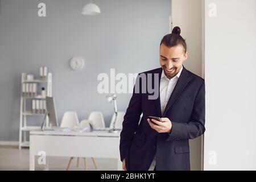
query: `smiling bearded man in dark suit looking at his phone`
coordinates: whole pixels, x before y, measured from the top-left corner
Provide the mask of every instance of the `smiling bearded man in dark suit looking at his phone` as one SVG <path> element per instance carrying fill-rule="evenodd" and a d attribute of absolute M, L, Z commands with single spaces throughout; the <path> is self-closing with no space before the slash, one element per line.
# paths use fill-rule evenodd
<path fill-rule="evenodd" d="M 160 43 L 162 68 L 141 73 L 146 83 L 152 81 L 148 75 L 159 77 L 152 84 L 159 86 L 159 94 L 150 100 L 150 92 L 134 89 L 120 140 L 124 170 L 190 170 L 188 140 L 205 131 L 205 84 L 184 68 L 187 57 L 187 45 L 175 27 Z M 135 86 L 142 88 L 143 82 L 137 78 Z"/>

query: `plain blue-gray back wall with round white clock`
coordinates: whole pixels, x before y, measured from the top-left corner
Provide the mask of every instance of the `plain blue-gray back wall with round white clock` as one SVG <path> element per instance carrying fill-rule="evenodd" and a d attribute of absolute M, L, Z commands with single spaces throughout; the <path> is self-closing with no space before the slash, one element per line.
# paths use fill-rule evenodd
<path fill-rule="evenodd" d="M 39 18 L 38 3 L 47 5 Z M 2 0 L 0 15 L 0 140 L 18 140 L 20 74 L 39 75 L 46 65 L 53 73 L 53 96 L 60 119 L 77 111 L 79 119 L 102 111 L 109 125 L 113 106 L 97 93 L 97 76 L 138 73 L 159 67 L 159 42 L 169 31 L 170 0 L 95 0 L 102 14 L 81 15 L 89 1 Z M 69 68 L 81 55 L 86 67 Z M 130 94 L 118 94 L 118 110 L 125 111 Z M 32 118 L 40 123 L 42 118 Z"/>

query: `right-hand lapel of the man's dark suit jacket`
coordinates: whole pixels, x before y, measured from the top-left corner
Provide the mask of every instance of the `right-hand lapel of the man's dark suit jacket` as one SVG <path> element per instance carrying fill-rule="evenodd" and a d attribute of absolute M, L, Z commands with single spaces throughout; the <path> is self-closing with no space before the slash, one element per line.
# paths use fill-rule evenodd
<path fill-rule="evenodd" d="M 187 69 L 185 69 L 185 67 L 183 66 L 183 70 L 181 71 L 179 80 L 177 81 L 176 86 L 172 91 L 171 97 L 167 102 L 166 108 L 164 109 L 163 116 L 170 109 L 172 104 L 174 104 L 175 100 L 177 99 L 177 97 L 179 97 L 180 93 L 183 91 L 183 89 L 188 84 L 188 82 L 189 82 L 189 74 Z"/>

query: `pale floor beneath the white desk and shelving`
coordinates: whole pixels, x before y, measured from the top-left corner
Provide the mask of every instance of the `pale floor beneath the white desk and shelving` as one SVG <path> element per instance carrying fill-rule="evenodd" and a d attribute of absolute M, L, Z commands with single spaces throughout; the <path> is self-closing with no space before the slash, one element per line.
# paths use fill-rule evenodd
<path fill-rule="evenodd" d="M 90 158 L 87 160 L 87 170 L 96 170 L 93 161 Z M 100 159 L 95 158 L 97 163 L 97 170 L 117 170 L 115 159 Z M 37 160 L 37 159 L 36 159 Z M 63 171 L 66 169 L 69 158 L 63 157 L 49 157 L 49 170 Z M 82 171 L 84 170 L 84 160 L 80 158 L 80 165 L 76 167 L 77 158 L 72 160 L 69 170 Z M 44 165 L 36 165 L 36 170 L 44 170 Z M 16 146 L 0 146 L 0 170 L 29 170 L 29 148 L 18 149 Z"/>

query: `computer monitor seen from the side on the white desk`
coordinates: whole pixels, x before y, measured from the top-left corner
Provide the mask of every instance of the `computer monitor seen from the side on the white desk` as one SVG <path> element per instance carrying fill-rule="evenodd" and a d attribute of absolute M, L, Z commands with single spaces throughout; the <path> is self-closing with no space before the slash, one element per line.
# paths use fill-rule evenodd
<path fill-rule="evenodd" d="M 44 121 L 43 121 L 41 129 L 43 130 L 43 127 L 46 124 L 47 115 L 49 118 L 49 123 L 48 123 L 49 126 L 47 126 L 47 127 L 59 126 L 56 109 L 55 109 L 55 101 L 54 101 L 53 97 L 46 97 L 46 110 L 47 110 L 46 115 L 44 116 Z"/>

